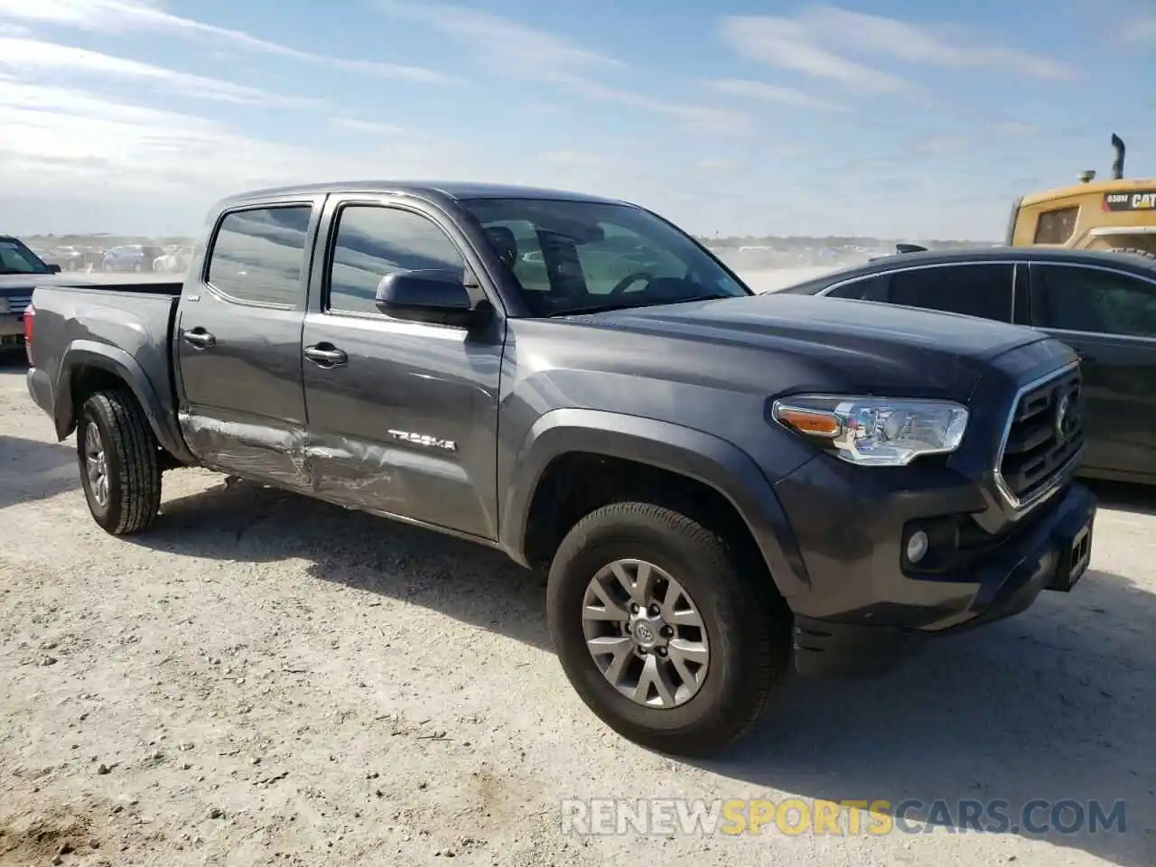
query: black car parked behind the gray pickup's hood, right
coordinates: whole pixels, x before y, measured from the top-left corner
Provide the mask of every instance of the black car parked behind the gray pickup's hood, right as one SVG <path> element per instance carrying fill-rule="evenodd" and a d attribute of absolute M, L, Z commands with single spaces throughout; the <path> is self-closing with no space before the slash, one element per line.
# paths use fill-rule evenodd
<path fill-rule="evenodd" d="M 899 252 L 780 290 L 1040 328 L 1083 370 L 1081 474 L 1156 483 L 1156 258 L 1061 247 Z"/>

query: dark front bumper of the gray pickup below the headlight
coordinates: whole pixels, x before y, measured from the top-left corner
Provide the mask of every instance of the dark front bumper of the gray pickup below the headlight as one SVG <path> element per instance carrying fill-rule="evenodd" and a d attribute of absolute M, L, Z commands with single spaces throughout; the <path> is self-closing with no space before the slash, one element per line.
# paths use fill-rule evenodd
<path fill-rule="evenodd" d="M 795 617 L 795 667 L 802 674 L 879 674 L 924 639 L 1010 617 L 1045 590 L 1072 590 L 1088 568 L 1097 506 L 1080 484 L 1068 483 L 998 534 L 976 533 L 980 544 L 961 550 L 938 572 L 920 573 L 904 560 L 906 528 L 925 518 L 969 524 L 969 513 L 980 511 L 983 492 L 958 476 L 954 487 L 936 490 L 949 476 L 936 479 L 935 473 L 919 487 L 849 491 L 827 514 L 836 523 L 857 517 L 859 523 L 832 538 L 830 523 L 800 525 L 800 510 L 792 509 L 815 496 L 814 483 L 835 481 L 816 469 L 777 486 L 812 578 L 809 593 L 788 600 Z M 833 468 L 835 475 L 845 472 Z M 822 543 L 820 534 L 827 536 Z"/>

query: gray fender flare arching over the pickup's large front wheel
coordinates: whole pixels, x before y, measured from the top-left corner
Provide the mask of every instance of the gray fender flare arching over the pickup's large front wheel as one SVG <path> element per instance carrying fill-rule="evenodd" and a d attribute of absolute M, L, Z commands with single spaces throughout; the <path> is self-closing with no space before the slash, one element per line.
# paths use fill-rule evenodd
<path fill-rule="evenodd" d="M 807 568 L 783 506 L 750 455 L 701 430 L 593 409 L 555 409 L 542 415 L 502 474 L 510 484 L 502 504 L 499 541 L 523 565 L 534 491 L 547 467 L 573 452 L 646 464 L 713 488 L 750 529 L 783 596 L 809 590 Z"/>

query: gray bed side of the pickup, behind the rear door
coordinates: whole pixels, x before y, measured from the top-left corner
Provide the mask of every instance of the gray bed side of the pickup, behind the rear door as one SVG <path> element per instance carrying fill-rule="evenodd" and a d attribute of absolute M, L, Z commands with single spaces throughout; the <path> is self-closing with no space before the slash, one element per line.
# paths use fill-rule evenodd
<path fill-rule="evenodd" d="M 55 421 L 59 439 L 75 430 L 76 410 L 89 394 L 124 385 L 161 445 L 194 462 L 176 417 L 171 347 L 180 291 L 180 283 L 168 281 L 37 287 L 29 388 Z"/>

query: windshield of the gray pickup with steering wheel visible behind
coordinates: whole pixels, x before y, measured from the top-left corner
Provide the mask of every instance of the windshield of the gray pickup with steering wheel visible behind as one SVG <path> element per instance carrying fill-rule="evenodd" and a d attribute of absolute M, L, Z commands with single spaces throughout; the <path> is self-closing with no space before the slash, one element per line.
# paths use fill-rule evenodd
<path fill-rule="evenodd" d="M 640 208 L 546 199 L 461 205 L 535 316 L 750 295 L 694 239 Z"/>

